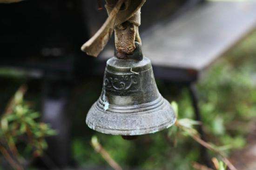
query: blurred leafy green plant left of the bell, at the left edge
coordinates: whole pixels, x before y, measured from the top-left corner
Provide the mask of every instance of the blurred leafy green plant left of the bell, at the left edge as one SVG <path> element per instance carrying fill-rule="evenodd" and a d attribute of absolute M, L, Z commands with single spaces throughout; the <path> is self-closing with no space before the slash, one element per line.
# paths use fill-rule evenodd
<path fill-rule="evenodd" d="M 49 125 L 37 121 L 40 114 L 24 101 L 25 91 L 25 87 L 21 87 L 16 92 L 0 117 L 0 146 L 10 150 L 11 156 L 17 160 L 42 155 L 47 148 L 45 138 L 56 134 Z M 21 146 L 25 146 L 25 149 L 21 150 Z"/>

